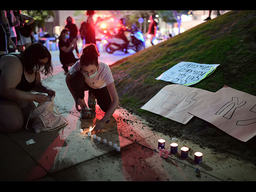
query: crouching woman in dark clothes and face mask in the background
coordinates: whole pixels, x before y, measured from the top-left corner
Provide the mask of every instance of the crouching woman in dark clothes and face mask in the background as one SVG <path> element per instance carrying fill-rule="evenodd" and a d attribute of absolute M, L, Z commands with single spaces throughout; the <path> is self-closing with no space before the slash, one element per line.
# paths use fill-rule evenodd
<path fill-rule="evenodd" d="M 65 71 L 65 74 L 68 72 L 68 66 L 74 65 L 78 59 L 75 58 L 73 50 L 76 46 L 76 38 L 69 41 L 69 29 L 65 28 L 61 31 L 59 39 L 59 48 L 60 48 L 60 62 L 63 65 L 62 68 Z"/>

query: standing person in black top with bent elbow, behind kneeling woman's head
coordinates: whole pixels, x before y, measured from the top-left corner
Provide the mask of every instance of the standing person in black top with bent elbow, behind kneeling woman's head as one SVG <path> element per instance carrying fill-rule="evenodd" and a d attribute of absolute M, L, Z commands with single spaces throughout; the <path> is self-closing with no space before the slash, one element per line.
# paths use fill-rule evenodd
<path fill-rule="evenodd" d="M 20 40 L 17 41 L 17 48 L 18 51 L 24 51 L 24 47 L 27 48 L 28 46 L 30 46 L 32 44 L 32 40 L 31 40 L 31 32 L 32 32 L 32 28 L 31 28 L 31 24 L 35 21 L 34 18 L 28 16 L 28 15 L 24 15 L 20 12 L 20 10 L 13 10 L 13 14 L 16 18 L 16 20 L 20 21 L 20 25 L 17 26 L 18 28 L 18 33 L 20 36 Z M 28 22 L 26 22 L 28 21 Z M 26 26 L 25 26 L 26 25 Z M 17 29 L 16 28 L 16 29 Z M 26 29 L 26 36 L 23 34 L 21 34 L 22 30 L 24 31 L 24 29 Z M 17 32 L 17 31 L 16 31 Z"/>

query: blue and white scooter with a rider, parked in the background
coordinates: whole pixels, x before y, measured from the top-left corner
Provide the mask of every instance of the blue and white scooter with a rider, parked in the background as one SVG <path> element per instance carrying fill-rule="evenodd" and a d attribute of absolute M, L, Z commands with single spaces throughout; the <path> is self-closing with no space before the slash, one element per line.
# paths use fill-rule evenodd
<path fill-rule="evenodd" d="M 133 49 L 136 52 L 144 50 L 145 40 L 140 30 L 130 31 L 130 36 L 127 39 L 129 41 L 127 49 Z M 106 38 L 106 40 L 108 41 L 106 45 L 106 51 L 108 53 L 112 54 L 116 50 L 126 51 L 125 41 L 121 38 L 112 36 L 112 38 Z"/>

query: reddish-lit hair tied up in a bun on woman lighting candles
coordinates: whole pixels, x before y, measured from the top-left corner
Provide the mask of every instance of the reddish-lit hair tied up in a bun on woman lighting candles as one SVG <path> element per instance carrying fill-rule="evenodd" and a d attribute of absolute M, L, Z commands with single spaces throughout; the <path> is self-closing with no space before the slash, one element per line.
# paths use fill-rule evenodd
<path fill-rule="evenodd" d="M 80 55 L 80 65 L 88 66 L 97 62 L 98 64 L 98 56 L 100 56 L 98 48 L 96 44 L 85 44 Z"/>

